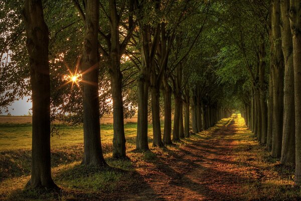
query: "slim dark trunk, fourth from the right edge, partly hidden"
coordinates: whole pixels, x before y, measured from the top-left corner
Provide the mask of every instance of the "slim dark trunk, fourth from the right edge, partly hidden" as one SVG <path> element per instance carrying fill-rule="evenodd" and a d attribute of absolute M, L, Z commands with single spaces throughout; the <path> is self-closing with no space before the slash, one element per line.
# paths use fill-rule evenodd
<path fill-rule="evenodd" d="M 273 136 L 273 78 L 272 72 L 269 74 L 268 83 L 268 108 L 267 108 L 267 133 L 266 133 L 266 148 L 271 151 L 272 149 L 272 136 Z"/>

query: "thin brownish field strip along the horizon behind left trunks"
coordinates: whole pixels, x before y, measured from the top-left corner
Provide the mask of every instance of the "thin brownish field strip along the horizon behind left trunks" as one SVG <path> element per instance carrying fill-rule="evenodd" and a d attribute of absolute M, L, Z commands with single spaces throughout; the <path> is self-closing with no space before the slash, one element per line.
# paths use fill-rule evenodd
<path fill-rule="evenodd" d="M 135 123 L 137 117 L 134 116 L 130 119 L 124 119 L 124 123 Z M 32 117 L 27 116 L 0 116 L 0 124 L 31 124 Z M 55 124 L 59 124 L 59 121 L 55 121 Z M 100 119 L 101 124 L 113 124 L 113 117 L 103 117 Z"/>

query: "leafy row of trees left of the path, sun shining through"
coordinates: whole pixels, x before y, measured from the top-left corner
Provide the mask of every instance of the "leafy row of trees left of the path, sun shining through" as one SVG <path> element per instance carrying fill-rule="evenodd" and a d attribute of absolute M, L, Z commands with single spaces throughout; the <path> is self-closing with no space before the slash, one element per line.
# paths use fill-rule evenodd
<path fill-rule="evenodd" d="M 26 0 L 24 7 L 18 3 L 2 5 L 9 15 L 3 16 L 6 23 L 1 21 L 7 28 L 2 29 L 1 52 L 6 52 L 6 61 L 0 79 L 5 83 L 1 105 L 7 107 L 31 94 L 32 173 L 28 186 L 57 188 L 50 165 L 54 119 L 83 123 L 83 164 L 106 166 L 99 124 L 104 113 L 113 114 L 114 158 L 126 157 L 123 119 L 132 115 L 135 105 L 136 149 L 142 151 L 149 150 L 149 115 L 154 147 L 189 137 L 190 120 L 192 133 L 198 133 L 231 115 L 233 107 L 223 100 L 224 86 L 216 81 L 215 67 L 204 59 L 210 54 L 206 47 L 212 39 L 202 34 L 209 33 L 218 20 L 208 17 L 216 10 L 210 2 L 73 0 L 42 5 L 41 0 Z M 213 51 L 219 51 L 218 47 Z M 68 63 L 78 55 L 75 67 L 70 68 Z M 78 87 L 69 90 L 66 85 L 71 82 Z M 111 110 L 107 109 L 108 98 L 112 99 Z"/>

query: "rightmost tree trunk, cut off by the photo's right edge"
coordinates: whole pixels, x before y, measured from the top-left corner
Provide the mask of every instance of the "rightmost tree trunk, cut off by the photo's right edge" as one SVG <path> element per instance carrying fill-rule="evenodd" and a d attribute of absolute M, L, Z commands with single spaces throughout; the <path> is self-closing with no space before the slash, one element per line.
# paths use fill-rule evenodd
<path fill-rule="evenodd" d="M 289 20 L 292 33 L 295 107 L 295 182 L 301 184 L 301 3 L 290 0 Z"/>

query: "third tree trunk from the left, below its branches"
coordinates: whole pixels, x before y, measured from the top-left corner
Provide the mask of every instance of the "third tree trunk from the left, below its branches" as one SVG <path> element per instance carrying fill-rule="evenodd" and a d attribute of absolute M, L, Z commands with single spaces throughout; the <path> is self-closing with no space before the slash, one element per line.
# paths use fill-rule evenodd
<path fill-rule="evenodd" d="M 113 60 L 114 57 L 111 57 Z M 111 91 L 113 100 L 113 158 L 124 158 L 125 135 L 123 122 L 122 74 L 118 56 L 111 61 Z"/>

